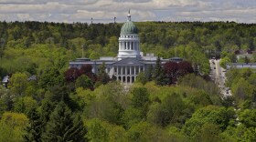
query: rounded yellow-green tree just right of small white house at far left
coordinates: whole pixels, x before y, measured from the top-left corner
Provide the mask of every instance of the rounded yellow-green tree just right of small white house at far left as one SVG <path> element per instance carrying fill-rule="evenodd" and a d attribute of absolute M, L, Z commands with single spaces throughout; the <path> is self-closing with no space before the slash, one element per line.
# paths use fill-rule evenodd
<path fill-rule="evenodd" d="M 27 75 L 25 73 L 16 73 L 11 77 L 10 83 L 11 90 L 18 96 L 21 96 L 27 88 Z"/>

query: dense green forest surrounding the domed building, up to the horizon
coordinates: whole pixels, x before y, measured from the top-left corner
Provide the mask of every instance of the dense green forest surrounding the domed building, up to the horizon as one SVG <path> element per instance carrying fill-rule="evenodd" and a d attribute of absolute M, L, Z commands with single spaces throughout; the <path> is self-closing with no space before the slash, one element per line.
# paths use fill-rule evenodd
<path fill-rule="evenodd" d="M 0 22 L 0 141 L 256 141 L 255 70 L 231 69 L 221 96 L 208 59 L 255 50 L 256 25 L 139 22 L 141 50 L 168 62 L 127 88 L 82 56 L 116 56 L 122 24 Z M 249 62 L 256 62 L 253 55 Z"/>

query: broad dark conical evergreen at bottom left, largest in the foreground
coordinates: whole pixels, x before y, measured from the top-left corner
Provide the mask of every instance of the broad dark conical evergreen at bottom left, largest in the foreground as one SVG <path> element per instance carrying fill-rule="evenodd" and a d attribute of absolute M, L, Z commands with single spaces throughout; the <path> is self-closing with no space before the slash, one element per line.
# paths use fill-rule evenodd
<path fill-rule="evenodd" d="M 73 118 L 69 107 L 61 101 L 50 115 L 46 132 L 43 134 L 44 141 L 85 141 L 80 117 Z"/>

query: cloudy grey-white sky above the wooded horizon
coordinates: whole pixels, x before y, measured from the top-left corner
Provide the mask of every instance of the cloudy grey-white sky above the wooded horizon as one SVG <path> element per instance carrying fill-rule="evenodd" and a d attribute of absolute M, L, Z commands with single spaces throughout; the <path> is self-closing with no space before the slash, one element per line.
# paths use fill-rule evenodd
<path fill-rule="evenodd" d="M 0 0 L 0 21 L 256 23 L 256 0 Z"/>

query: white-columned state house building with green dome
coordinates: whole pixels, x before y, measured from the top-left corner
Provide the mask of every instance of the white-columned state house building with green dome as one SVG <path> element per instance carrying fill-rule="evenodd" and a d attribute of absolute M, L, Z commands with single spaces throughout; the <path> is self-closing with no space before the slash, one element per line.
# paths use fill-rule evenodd
<path fill-rule="evenodd" d="M 116 78 L 122 83 L 132 84 L 136 80 L 136 76 L 143 72 L 149 66 L 155 66 L 157 56 L 154 54 L 146 54 L 140 52 L 140 38 L 138 36 L 138 28 L 131 21 L 131 15 L 128 14 L 127 21 L 123 24 L 119 37 L 119 50 L 116 57 L 101 56 L 98 60 L 89 58 L 78 58 L 69 62 L 69 67 L 80 68 L 84 65 L 91 65 L 92 72 L 97 74 L 99 66 L 105 63 L 105 71 L 111 78 Z M 179 62 L 181 58 L 162 59 L 162 64 L 167 61 Z"/>

